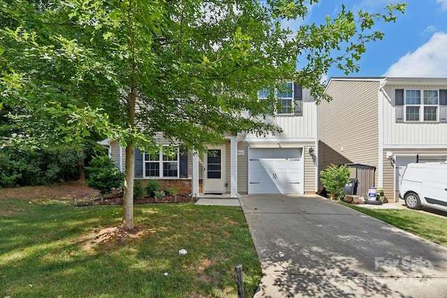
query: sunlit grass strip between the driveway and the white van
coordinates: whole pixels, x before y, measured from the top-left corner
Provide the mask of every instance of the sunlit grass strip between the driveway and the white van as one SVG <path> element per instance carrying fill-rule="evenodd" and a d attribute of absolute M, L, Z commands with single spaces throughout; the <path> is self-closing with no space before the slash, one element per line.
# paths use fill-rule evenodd
<path fill-rule="evenodd" d="M 411 209 L 367 209 L 352 204 L 342 204 L 447 247 L 447 218 L 423 214 Z"/>

